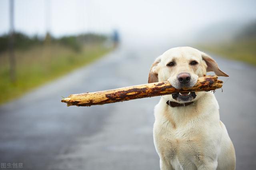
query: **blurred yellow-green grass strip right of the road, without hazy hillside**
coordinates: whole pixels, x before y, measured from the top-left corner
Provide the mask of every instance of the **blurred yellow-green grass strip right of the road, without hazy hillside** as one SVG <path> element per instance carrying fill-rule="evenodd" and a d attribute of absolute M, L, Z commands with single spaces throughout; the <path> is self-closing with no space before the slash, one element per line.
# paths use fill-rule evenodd
<path fill-rule="evenodd" d="M 256 66 L 256 39 L 245 39 L 232 43 L 200 44 L 197 46 L 221 57 L 243 61 Z"/>

